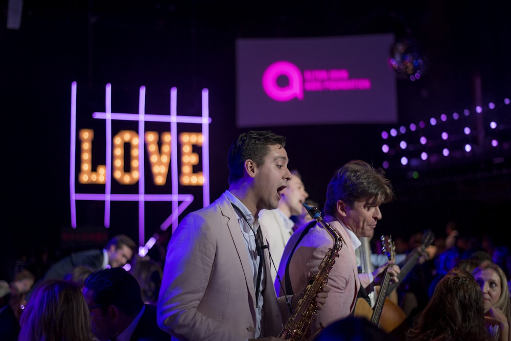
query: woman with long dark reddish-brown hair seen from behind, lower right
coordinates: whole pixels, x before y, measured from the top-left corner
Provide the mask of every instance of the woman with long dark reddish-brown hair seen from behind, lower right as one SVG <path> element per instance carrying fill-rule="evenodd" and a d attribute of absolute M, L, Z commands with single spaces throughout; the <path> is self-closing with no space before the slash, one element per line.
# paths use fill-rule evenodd
<path fill-rule="evenodd" d="M 407 341 L 487 341 L 484 304 L 474 277 L 454 268 L 436 286 L 428 305 L 406 332 Z"/>

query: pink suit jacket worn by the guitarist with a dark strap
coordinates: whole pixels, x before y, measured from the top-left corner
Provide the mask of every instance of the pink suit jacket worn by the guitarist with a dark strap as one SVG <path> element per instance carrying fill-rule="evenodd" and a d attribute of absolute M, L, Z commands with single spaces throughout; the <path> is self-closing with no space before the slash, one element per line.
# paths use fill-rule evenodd
<path fill-rule="evenodd" d="M 367 274 L 358 274 L 353 243 L 344 227 L 334 217 L 326 216 L 324 220 L 339 232 L 343 239 L 343 246 L 328 277 L 327 284 L 331 290 L 327 302 L 312 321 L 311 333 L 315 333 L 320 329 L 320 323 L 326 327 L 332 322 L 349 316 L 355 308 L 360 285 L 367 287 L 370 284 Z M 275 289 L 278 290 L 280 295 L 284 295 L 286 291 L 286 263 L 299 236 L 306 227 L 307 225 L 293 233 L 284 250 L 278 267 L 278 275 L 282 280 L 284 290 L 282 290 L 278 281 L 274 283 Z M 310 272 L 314 275 L 318 272 L 321 261 L 328 250 L 333 247 L 333 240 L 332 235 L 319 224 L 311 228 L 309 233 L 301 239 L 289 262 L 289 278 L 293 292 L 304 287 L 308 280 L 307 273 Z"/>

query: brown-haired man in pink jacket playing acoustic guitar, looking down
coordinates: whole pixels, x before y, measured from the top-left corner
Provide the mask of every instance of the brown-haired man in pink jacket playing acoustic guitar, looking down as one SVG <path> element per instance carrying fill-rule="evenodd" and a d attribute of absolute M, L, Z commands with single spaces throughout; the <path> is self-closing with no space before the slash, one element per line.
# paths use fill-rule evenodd
<path fill-rule="evenodd" d="M 392 186 L 383 171 L 364 161 L 348 162 L 332 177 L 327 188 L 324 221 L 341 235 L 344 246 L 329 273 L 328 285 L 331 290 L 317 318 L 311 323 L 312 334 L 349 316 L 361 288 L 362 291 L 369 291 L 371 284 L 379 284 L 387 266 L 391 281 L 398 281 L 400 270 L 393 261 L 380 266 L 373 273 L 358 274 L 355 256 L 355 249 L 361 245 L 359 238 L 374 235 L 377 222 L 382 217 L 380 205 L 393 198 Z M 330 248 L 332 236 L 319 224 L 308 224 L 297 230 L 288 241 L 278 268 L 283 282 L 279 294 L 289 295 L 303 287 L 308 281 L 307 275 L 317 272 Z"/>

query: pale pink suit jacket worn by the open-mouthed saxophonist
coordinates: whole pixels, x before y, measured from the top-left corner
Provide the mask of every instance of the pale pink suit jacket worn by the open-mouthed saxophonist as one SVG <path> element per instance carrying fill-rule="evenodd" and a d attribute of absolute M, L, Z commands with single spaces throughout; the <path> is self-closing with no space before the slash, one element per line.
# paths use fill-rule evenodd
<path fill-rule="evenodd" d="M 264 251 L 261 336 L 277 336 L 283 327 L 281 309 L 286 313 L 284 299 L 277 302 L 269 261 Z M 185 216 L 168 245 L 157 304 L 159 327 L 179 340 L 254 338 L 255 288 L 250 262 L 238 215 L 225 194 Z"/>

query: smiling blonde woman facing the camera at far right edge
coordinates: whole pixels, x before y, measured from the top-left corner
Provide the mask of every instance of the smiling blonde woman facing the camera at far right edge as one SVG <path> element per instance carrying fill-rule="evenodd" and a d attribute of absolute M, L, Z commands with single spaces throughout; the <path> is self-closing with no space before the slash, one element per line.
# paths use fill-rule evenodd
<path fill-rule="evenodd" d="M 493 340 L 511 339 L 511 301 L 504 272 L 495 263 L 476 267 L 472 272 L 482 291 L 487 325 Z"/>

